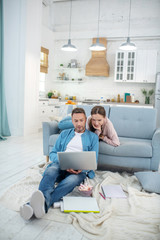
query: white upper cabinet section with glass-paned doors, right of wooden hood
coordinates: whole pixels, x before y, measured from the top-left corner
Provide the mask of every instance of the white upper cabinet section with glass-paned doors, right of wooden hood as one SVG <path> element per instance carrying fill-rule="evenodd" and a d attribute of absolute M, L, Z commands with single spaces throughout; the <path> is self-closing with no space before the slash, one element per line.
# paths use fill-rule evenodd
<path fill-rule="evenodd" d="M 115 82 L 134 82 L 135 65 L 135 51 L 118 51 L 115 61 Z"/>

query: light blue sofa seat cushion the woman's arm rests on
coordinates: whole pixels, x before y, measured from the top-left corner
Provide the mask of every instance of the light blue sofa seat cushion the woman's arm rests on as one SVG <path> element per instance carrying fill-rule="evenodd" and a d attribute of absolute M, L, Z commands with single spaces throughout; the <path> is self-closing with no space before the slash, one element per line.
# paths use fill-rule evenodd
<path fill-rule="evenodd" d="M 136 138 L 119 138 L 120 146 L 113 147 L 100 142 L 99 153 L 121 157 L 152 157 L 151 140 Z"/>

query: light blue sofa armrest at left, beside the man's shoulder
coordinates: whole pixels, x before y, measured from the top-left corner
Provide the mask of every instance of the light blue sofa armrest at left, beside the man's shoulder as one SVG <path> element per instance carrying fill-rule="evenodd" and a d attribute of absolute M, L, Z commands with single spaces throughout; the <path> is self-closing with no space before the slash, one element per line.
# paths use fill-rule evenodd
<path fill-rule="evenodd" d="M 59 133 L 58 122 L 43 122 L 43 154 L 49 156 L 49 137 L 53 134 Z"/>

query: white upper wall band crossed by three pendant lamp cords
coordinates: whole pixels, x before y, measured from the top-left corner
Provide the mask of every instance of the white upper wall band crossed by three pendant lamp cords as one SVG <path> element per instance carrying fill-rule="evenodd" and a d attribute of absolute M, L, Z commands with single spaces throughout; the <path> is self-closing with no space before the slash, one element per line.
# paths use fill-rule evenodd
<path fill-rule="evenodd" d="M 97 37 L 98 0 L 73 0 L 72 38 Z M 70 0 L 43 0 L 43 24 L 55 38 L 68 38 Z M 130 36 L 160 37 L 160 1 L 132 0 Z M 100 0 L 100 37 L 122 38 L 128 35 L 129 0 Z"/>

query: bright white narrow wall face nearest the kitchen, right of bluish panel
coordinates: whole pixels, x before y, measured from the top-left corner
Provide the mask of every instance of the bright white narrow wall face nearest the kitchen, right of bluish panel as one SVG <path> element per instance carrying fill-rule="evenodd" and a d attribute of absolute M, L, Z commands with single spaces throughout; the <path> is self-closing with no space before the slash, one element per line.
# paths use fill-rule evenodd
<path fill-rule="evenodd" d="M 27 0 L 24 135 L 38 131 L 42 1 Z"/>

